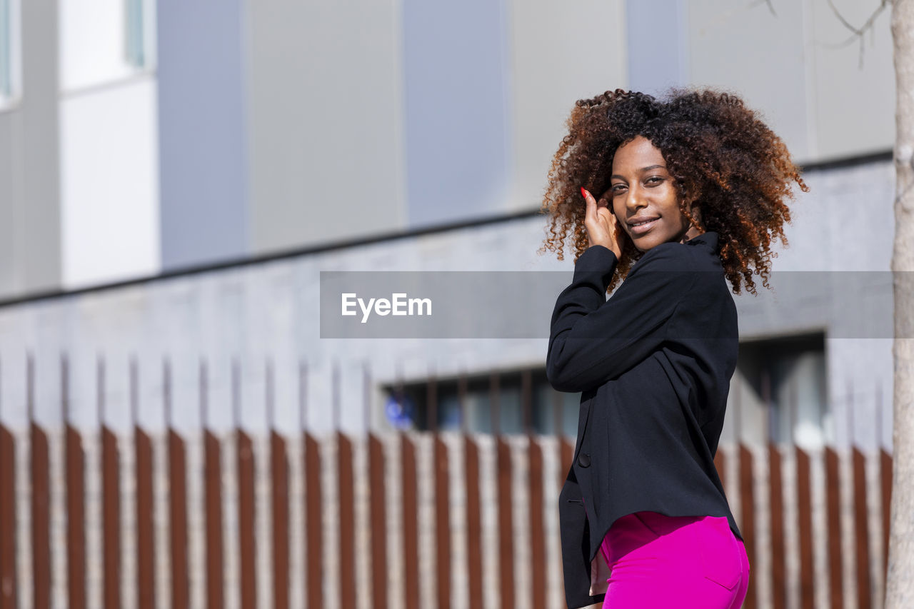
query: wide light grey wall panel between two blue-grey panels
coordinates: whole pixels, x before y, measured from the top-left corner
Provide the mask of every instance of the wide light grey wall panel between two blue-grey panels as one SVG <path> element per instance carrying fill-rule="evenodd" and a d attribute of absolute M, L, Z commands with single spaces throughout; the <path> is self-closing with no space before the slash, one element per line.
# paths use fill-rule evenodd
<path fill-rule="evenodd" d="M 397 0 L 249 0 L 251 249 L 406 224 Z"/>

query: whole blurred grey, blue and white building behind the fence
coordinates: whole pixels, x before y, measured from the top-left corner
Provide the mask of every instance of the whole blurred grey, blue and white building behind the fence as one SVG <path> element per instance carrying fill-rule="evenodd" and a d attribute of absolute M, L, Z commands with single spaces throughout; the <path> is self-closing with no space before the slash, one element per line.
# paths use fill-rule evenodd
<path fill-rule="evenodd" d="M 835 4 L 851 23 L 868 15 L 866 3 Z M 418 395 L 431 374 L 541 370 L 544 339 L 507 348 L 321 339 L 311 298 L 330 269 L 570 277 L 570 260 L 535 253 L 545 225 L 537 208 L 573 102 L 615 88 L 739 92 L 813 187 L 793 206 L 791 247 L 774 270 L 888 270 L 887 15 L 857 40 L 826 0 L 0 8 L 0 332 L 4 373 L 15 377 L 26 350 L 39 369 L 53 369 L 59 351 L 239 357 L 252 379 L 258 358 L 271 356 L 286 362 L 277 369 L 290 388 L 302 359 L 328 374 L 334 362 L 350 376 L 367 365 L 377 395 L 369 420 L 344 395 L 338 419 L 314 421 L 359 429 L 389 424 L 383 404 L 398 379 Z M 271 300 L 264 284 L 277 291 Z M 738 299 L 737 380 L 746 382 L 733 391 L 746 433 L 890 444 L 890 409 L 871 416 L 878 396 L 888 404 L 891 395 L 890 335 L 835 332 L 815 299 L 797 305 L 795 320 L 753 315 L 751 298 Z M 329 399 L 327 387 L 312 390 L 314 401 Z M 3 391 L 5 403 L 21 403 L 24 385 L 5 380 Z M 778 414 L 788 395 L 806 403 L 796 416 Z M 833 409 L 845 399 L 866 409 L 854 424 Z M 91 411 L 90 393 L 73 401 L 76 416 L 80 403 Z M 21 409 L 3 410 L 24 421 Z M 505 416 L 516 429 L 519 415 Z"/>

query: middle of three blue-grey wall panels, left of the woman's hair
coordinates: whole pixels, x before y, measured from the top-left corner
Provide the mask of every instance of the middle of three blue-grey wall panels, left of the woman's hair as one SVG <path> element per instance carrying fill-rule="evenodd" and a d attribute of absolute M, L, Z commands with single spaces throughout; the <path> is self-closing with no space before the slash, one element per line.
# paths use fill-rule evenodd
<path fill-rule="evenodd" d="M 510 184 L 504 0 L 405 0 L 410 227 L 504 212 Z"/>

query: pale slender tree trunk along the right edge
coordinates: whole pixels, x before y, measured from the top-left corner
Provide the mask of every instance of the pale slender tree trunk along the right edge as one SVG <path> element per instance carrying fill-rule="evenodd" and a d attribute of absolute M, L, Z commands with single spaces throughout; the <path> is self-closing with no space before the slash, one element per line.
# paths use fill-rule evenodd
<path fill-rule="evenodd" d="M 895 391 L 886 607 L 914 607 L 914 0 L 892 3 L 895 46 Z"/>

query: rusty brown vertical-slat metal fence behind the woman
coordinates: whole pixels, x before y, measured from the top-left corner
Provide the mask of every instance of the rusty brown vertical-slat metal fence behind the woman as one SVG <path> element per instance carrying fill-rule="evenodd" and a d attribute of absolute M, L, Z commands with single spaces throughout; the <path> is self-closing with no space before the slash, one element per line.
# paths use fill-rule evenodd
<path fill-rule="evenodd" d="M 130 371 L 117 407 L 135 413 Z M 573 439 L 214 433 L 205 365 L 201 433 L 88 433 L 66 416 L 66 360 L 60 379 L 62 430 L 31 416 L 31 360 L 31 423 L 0 426 L 0 609 L 564 606 L 556 501 Z M 237 367 L 231 385 L 238 408 Z M 752 565 L 744 606 L 881 604 L 890 454 L 724 443 L 715 461 Z"/>

